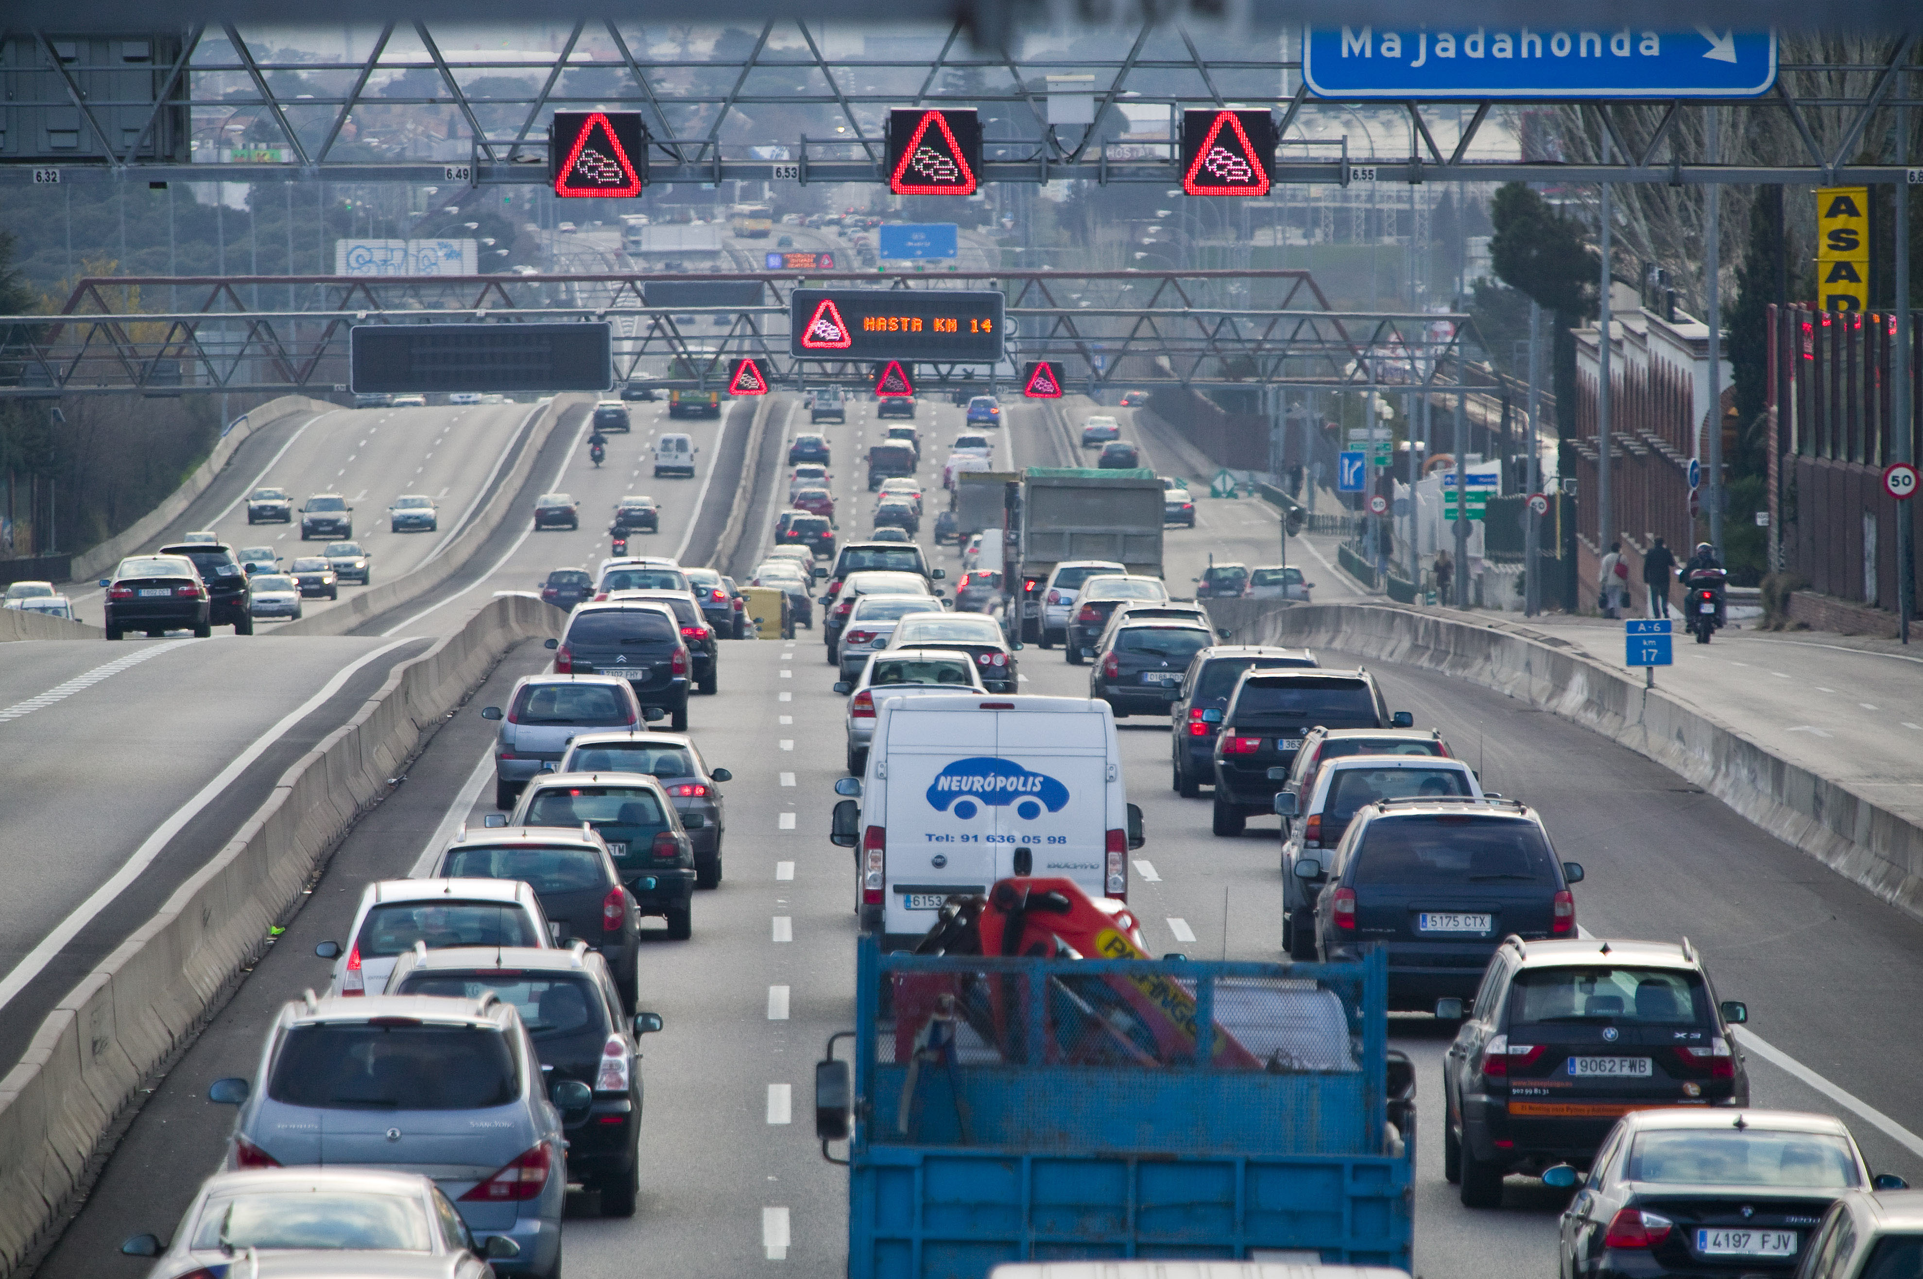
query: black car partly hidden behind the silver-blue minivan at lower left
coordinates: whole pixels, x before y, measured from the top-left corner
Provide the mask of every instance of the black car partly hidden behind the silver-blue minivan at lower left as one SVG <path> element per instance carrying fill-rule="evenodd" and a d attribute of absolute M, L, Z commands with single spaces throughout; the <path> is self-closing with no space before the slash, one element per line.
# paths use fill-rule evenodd
<path fill-rule="evenodd" d="M 594 1106 L 565 1129 L 569 1179 L 600 1192 L 604 1217 L 635 1216 L 644 1100 L 637 1037 L 662 1029 L 662 1019 L 631 1016 L 633 998 L 615 987 L 600 956 L 573 946 L 429 950 L 402 958 L 392 991 L 444 998 L 492 991 L 519 1008 L 552 1079 L 573 1079 L 594 1092 Z"/>

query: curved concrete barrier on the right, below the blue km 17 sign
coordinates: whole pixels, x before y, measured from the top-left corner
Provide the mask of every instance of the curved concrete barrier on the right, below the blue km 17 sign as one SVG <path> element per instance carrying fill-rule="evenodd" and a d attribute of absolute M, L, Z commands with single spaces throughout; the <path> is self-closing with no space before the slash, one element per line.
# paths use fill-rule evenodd
<path fill-rule="evenodd" d="M 1552 635 L 1519 623 L 1465 623 L 1375 604 L 1211 600 L 1210 615 L 1236 644 L 1335 648 L 1406 662 L 1581 723 L 1923 917 L 1923 827 Z"/>

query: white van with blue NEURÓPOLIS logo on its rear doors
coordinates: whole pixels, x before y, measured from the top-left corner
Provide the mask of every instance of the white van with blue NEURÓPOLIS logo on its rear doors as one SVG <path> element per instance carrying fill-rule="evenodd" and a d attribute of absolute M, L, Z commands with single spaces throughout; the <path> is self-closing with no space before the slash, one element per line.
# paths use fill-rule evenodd
<path fill-rule="evenodd" d="M 1129 898 L 1142 812 L 1127 802 L 1106 702 L 1052 696 L 877 700 L 867 771 L 835 783 L 831 840 L 856 850 L 863 931 L 921 940 L 950 894 L 1010 875 Z"/>

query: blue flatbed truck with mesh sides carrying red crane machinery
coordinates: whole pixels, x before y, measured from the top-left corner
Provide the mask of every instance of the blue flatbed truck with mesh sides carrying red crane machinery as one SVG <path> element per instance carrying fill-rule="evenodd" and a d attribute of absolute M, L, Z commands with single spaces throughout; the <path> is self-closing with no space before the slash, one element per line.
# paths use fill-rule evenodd
<path fill-rule="evenodd" d="M 858 973 L 856 1029 L 815 1067 L 850 1279 L 1079 1258 L 1410 1269 L 1415 1081 L 1388 1050 L 1381 954 L 913 956 L 863 937 Z"/>

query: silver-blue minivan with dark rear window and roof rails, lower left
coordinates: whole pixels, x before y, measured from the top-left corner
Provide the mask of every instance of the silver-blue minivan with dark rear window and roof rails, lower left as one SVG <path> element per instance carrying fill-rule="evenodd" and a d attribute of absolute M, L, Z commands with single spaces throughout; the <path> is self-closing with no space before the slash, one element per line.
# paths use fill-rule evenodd
<path fill-rule="evenodd" d="M 238 1106 L 229 1169 L 360 1164 L 435 1179 L 469 1233 L 504 1235 L 500 1273 L 562 1271 L 563 1114 L 594 1104 L 577 1079 L 542 1087 L 513 1004 L 369 994 L 281 1008 L 254 1081 L 215 1079 Z M 506 1252 L 506 1248 L 502 1248 Z"/>

